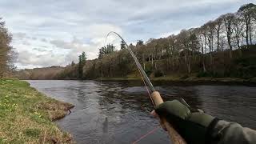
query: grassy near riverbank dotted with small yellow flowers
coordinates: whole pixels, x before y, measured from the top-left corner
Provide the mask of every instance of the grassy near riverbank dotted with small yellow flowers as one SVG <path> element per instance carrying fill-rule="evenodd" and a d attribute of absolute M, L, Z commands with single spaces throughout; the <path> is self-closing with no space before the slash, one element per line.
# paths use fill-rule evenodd
<path fill-rule="evenodd" d="M 46 97 L 28 82 L 0 79 L 0 143 L 73 143 L 53 122 L 72 107 Z"/>

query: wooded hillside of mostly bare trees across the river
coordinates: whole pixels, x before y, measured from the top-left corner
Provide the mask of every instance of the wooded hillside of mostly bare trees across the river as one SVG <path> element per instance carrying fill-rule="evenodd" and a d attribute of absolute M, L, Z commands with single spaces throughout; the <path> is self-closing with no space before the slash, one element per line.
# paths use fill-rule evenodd
<path fill-rule="evenodd" d="M 200 27 L 181 30 L 167 38 L 150 38 L 130 44 L 150 78 L 243 78 L 256 77 L 256 5 L 249 3 L 237 12 L 222 14 Z M 19 70 L 22 79 L 138 78 L 138 70 L 120 42 L 121 50 L 109 44 L 98 58 L 43 70 Z"/>

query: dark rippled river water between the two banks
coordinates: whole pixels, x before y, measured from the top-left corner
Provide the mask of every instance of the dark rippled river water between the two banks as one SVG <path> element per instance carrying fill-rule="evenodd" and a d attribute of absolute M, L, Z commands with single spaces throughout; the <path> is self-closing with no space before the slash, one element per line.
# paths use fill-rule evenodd
<path fill-rule="evenodd" d="M 149 114 L 153 107 L 141 82 L 31 80 L 51 98 L 74 104 L 71 114 L 57 121 L 78 143 L 170 143 Z M 190 106 L 218 118 L 256 129 L 256 87 L 155 84 L 164 100 L 182 97 Z"/>

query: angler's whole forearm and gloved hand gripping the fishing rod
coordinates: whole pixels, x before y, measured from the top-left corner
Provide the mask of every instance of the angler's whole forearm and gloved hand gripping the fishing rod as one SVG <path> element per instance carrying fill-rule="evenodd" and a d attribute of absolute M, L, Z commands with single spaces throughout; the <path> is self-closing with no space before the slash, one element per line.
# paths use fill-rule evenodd
<path fill-rule="evenodd" d="M 157 106 L 154 115 L 164 117 L 175 126 L 187 143 L 256 143 L 256 131 L 243 128 L 237 123 L 218 120 L 202 111 L 190 110 L 178 100 Z"/>

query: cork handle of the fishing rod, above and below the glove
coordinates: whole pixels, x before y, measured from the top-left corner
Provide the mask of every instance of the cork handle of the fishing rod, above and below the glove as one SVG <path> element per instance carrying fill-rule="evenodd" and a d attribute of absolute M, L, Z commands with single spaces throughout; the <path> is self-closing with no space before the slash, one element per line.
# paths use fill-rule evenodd
<path fill-rule="evenodd" d="M 158 106 L 163 102 L 162 97 L 158 91 L 154 91 L 151 94 L 151 97 L 154 101 L 155 106 Z M 166 130 L 168 131 L 168 134 L 170 136 L 170 141 L 172 143 L 186 144 L 186 141 L 184 140 L 184 138 L 182 138 L 182 136 L 180 134 L 178 134 L 178 132 L 176 130 L 174 130 L 174 127 L 171 126 L 171 124 L 166 121 L 166 118 L 161 118 L 161 121 L 162 121 L 163 125 L 165 126 Z"/>

